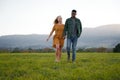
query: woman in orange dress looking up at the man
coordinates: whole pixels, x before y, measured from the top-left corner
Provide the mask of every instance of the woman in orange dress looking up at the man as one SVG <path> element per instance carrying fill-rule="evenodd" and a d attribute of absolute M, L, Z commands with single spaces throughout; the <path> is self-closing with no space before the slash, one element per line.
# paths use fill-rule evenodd
<path fill-rule="evenodd" d="M 57 18 L 54 21 L 52 31 L 47 39 L 48 41 L 53 32 L 55 31 L 55 35 L 53 37 L 53 47 L 56 48 L 56 62 L 59 62 L 61 59 L 61 50 L 64 45 L 63 30 L 64 24 L 62 24 L 62 17 L 57 16 Z"/>

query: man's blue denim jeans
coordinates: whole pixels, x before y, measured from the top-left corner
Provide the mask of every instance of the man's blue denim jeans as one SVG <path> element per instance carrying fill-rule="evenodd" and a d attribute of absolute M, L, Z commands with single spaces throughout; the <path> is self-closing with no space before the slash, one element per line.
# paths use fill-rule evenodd
<path fill-rule="evenodd" d="M 72 61 L 75 61 L 76 59 L 76 45 L 77 45 L 77 36 L 73 36 L 70 38 L 67 38 L 67 55 L 68 55 L 68 60 L 70 60 L 70 49 L 72 45 Z"/>

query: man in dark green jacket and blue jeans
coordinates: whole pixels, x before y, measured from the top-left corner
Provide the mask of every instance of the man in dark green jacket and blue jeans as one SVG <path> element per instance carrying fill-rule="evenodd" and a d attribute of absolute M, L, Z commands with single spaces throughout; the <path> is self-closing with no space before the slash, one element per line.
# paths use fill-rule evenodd
<path fill-rule="evenodd" d="M 70 61 L 70 48 L 72 45 L 72 62 L 76 59 L 76 45 L 77 40 L 82 32 L 82 25 L 80 19 L 76 18 L 76 10 L 72 10 L 71 17 L 65 22 L 63 36 L 67 35 L 67 55 L 68 61 Z"/>

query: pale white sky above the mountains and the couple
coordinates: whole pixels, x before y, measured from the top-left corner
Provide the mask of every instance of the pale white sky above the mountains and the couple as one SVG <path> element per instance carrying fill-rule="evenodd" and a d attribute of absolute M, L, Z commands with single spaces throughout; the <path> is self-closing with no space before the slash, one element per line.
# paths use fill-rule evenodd
<path fill-rule="evenodd" d="M 0 36 L 49 34 L 54 19 L 63 24 L 76 9 L 83 28 L 120 24 L 120 0 L 0 0 Z"/>

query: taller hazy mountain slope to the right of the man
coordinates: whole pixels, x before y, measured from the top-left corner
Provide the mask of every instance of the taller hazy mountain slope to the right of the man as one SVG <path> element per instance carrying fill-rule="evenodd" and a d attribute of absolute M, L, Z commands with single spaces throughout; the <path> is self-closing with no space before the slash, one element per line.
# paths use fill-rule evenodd
<path fill-rule="evenodd" d="M 112 24 L 85 28 L 78 46 L 113 48 L 118 43 L 120 43 L 120 24 Z"/>

